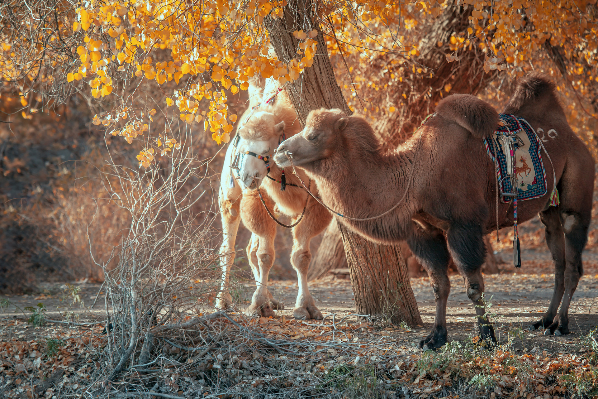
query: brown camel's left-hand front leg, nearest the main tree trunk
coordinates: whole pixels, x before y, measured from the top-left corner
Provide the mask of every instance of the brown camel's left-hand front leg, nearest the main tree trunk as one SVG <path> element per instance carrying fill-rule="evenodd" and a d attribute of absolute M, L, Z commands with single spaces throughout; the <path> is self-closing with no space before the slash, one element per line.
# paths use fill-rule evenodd
<path fill-rule="evenodd" d="M 450 256 L 446 240 L 441 230 L 432 226 L 422 229 L 417 225 L 407 243 L 413 255 L 428 272 L 436 301 L 436 318 L 432 325 L 432 331 L 419 342 L 419 348 L 424 351 L 438 349 L 447 342 L 446 307 L 450 294 L 447 270 Z"/>

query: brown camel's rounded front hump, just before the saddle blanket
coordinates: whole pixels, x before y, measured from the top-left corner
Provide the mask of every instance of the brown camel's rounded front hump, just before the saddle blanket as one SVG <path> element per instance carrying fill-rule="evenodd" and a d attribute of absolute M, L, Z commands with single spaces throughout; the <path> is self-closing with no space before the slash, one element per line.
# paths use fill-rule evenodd
<path fill-rule="evenodd" d="M 469 130 L 476 137 L 489 135 L 498 124 L 498 112 L 492 105 L 467 94 L 448 96 L 438 103 L 436 112 Z"/>

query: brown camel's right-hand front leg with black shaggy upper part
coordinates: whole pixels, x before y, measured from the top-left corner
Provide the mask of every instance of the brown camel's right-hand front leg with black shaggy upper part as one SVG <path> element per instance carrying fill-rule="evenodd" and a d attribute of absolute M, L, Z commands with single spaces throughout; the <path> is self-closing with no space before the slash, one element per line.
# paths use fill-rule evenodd
<path fill-rule="evenodd" d="M 457 269 L 465 279 L 467 296 L 474 303 L 475 314 L 478 316 L 478 330 L 480 338 L 485 342 L 496 342 L 494 327 L 485 316 L 486 307 L 482 296 L 484 293 L 484 278 L 481 266 L 486 258 L 486 246 L 481 223 L 453 223 L 447 231 L 447 244 Z"/>

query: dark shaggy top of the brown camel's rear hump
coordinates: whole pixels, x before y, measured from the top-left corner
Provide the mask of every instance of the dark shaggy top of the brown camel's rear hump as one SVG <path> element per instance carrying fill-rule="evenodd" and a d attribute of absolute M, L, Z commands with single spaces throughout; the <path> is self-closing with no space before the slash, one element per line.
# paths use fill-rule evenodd
<path fill-rule="evenodd" d="M 545 74 L 533 72 L 517 81 L 515 92 L 505 108 L 505 114 L 518 114 L 524 105 L 536 108 L 534 103 L 547 96 L 559 105 L 554 82 Z"/>

